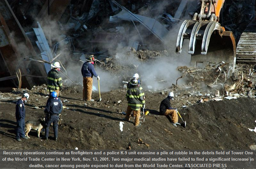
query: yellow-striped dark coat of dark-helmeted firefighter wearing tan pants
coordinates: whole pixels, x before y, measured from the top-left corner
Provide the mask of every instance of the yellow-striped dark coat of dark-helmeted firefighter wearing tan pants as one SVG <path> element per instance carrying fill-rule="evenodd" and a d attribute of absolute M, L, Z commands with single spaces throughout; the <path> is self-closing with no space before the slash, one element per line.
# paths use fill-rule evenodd
<path fill-rule="evenodd" d="M 132 110 L 140 110 L 142 105 L 145 104 L 143 96 L 144 93 L 142 93 L 138 87 L 129 88 L 126 93 L 128 106 L 130 106 Z"/>

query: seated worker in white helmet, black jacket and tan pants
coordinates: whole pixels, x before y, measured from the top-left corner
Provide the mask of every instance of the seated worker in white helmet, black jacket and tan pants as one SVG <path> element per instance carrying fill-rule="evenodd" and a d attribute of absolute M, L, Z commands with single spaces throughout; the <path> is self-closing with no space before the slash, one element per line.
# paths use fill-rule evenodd
<path fill-rule="evenodd" d="M 172 108 L 170 104 L 170 101 L 174 100 L 173 97 L 174 97 L 173 92 L 170 92 L 168 96 L 161 102 L 159 109 L 162 115 L 165 115 L 165 116 L 171 115 L 172 124 L 175 127 L 177 127 L 177 125 L 180 125 L 180 123 L 178 123 L 178 115 L 177 115 L 176 109 Z"/>

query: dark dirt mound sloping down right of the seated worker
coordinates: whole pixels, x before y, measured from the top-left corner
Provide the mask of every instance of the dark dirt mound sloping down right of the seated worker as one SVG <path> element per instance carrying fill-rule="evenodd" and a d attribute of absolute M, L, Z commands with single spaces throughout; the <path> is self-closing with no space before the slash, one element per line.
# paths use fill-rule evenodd
<path fill-rule="evenodd" d="M 197 104 L 183 110 L 189 129 L 198 134 L 201 142 L 211 142 L 217 149 L 247 149 L 255 143 L 254 128 L 256 101 L 238 98 Z M 200 143 L 201 144 L 201 143 Z"/>

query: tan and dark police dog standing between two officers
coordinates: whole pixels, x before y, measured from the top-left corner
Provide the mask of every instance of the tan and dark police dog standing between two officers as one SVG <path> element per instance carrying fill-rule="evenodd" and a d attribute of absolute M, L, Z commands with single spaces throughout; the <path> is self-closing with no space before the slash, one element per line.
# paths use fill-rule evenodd
<path fill-rule="evenodd" d="M 45 118 L 40 118 L 37 121 L 34 120 L 28 120 L 25 123 L 25 135 L 28 136 L 31 129 L 37 130 L 38 137 L 40 137 L 40 131 L 44 128 Z"/>

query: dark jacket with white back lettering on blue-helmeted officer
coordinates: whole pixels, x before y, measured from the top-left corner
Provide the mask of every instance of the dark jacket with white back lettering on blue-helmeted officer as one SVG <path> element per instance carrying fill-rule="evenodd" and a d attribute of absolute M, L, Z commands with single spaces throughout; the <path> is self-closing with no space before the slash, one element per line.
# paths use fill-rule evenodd
<path fill-rule="evenodd" d="M 49 115 L 58 115 L 62 111 L 62 102 L 58 97 L 51 97 L 47 100 L 45 112 Z"/>

